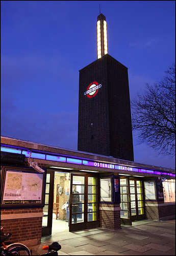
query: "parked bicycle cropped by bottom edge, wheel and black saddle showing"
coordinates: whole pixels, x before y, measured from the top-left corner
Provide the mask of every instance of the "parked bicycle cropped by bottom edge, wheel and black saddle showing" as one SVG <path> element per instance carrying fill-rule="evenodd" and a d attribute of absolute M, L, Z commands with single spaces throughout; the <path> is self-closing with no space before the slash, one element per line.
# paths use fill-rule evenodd
<path fill-rule="evenodd" d="M 4 233 L 3 227 L 1 227 L 1 256 L 12 256 L 12 255 L 32 255 L 32 250 L 23 244 L 14 243 L 7 245 L 5 243 L 6 240 L 12 236 L 12 233 Z M 9 242 L 9 241 L 8 241 Z M 58 242 L 53 242 L 51 245 L 45 245 L 42 247 L 43 250 L 47 250 L 46 253 L 42 255 L 58 255 L 58 250 L 61 249 L 61 245 Z"/>

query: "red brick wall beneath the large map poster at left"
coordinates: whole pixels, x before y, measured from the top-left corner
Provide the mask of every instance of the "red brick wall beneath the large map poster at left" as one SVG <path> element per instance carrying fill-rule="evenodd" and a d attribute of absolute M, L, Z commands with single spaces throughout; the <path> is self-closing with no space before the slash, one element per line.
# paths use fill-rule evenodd
<path fill-rule="evenodd" d="M 11 232 L 10 241 L 26 246 L 41 243 L 43 208 L 2 209 L 1 226 Z"/>

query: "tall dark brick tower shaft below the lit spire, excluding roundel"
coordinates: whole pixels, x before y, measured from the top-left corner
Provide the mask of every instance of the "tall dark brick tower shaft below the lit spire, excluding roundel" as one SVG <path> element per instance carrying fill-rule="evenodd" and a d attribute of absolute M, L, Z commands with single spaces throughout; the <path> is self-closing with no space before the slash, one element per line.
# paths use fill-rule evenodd
<path fill-rule="evenodd" d="M 88 98 L 93 81 L 102 87 Z M 109 54 L 80 70 L 78 150 L 134 161 L 128 69 Z"/>

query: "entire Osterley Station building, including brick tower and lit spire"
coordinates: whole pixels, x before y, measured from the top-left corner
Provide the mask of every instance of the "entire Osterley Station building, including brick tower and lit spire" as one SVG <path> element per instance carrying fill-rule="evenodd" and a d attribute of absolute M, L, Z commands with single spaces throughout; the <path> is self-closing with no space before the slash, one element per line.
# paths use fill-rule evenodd
<path fill-rule="evenodd" d="M 1 136 L 1 226 L 28 246 L 61 227 L 174 218 L 175 170 L 134 162 L 128 69 L 108 54 L 100 14 L 97 59 L 80 70 L 78 151 Z"/>

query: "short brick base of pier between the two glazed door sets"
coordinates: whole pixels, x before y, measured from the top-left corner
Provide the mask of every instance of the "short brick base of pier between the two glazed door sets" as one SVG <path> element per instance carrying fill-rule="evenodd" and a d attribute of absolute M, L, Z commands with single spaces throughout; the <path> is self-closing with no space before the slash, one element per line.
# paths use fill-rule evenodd
<path fill-rule="evenodd" d="M 109 229 L 120 229 L 120 205 L 100 204 L 99 205 L 100 227 Z"/>

